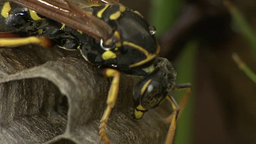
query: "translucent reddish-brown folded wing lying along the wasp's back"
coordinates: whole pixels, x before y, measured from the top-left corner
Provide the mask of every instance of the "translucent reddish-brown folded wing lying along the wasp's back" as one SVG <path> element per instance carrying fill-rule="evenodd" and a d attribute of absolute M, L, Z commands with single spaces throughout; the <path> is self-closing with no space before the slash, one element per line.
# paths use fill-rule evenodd
<path fill-rule="evenodd" d="M 113 34 L 112 28 L 103 20 L 81 9 L 90 0 L 11 0 L 12 2 L 36 11 L 57 22 L 89 34 L 96 40 L 107 40 Z M 113 0 L 111 0 L 113 1 Z M 78 5 L 80 2 L 81 5 Z M 100 0 L 102 2 L 102 0 Z"/>

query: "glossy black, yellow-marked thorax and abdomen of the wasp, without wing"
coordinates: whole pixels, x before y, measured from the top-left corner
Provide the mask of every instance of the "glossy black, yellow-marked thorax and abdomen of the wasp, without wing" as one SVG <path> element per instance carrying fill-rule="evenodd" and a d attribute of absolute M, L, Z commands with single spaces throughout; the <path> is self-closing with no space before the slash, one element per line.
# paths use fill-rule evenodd
<path fill-rule="evenodd" d="M 9 3 L 10 10 L 2 13 L 1 32 L 20 32 L 25 36 L 45 36 L 50 38 L 54 45 L 65 49 L 79 49 L 82 55 L 91 63 L 108 68 L 114 68 L 127 74 L 146 75 L 143 68 L 152 66 L 159 53 L 159 46 L 150 34 L 150 26 L 133 10 L 118 4 L 81 5 L 82 10 L 92 13 L 108 24 L 113 35 L 119 41 L 112 46 L 103 46 L 100 41 L 92 38 L 88 44 L 89 34 L 66 26 L 37 14 L 32 10 Z M 7 3 L 1 3 L 2 8 L 8 8 Z M 5 25 L 4 25 L 5 24 Z M 129 28 L 132 27 L 132 28 Z M 84 44 L 86 42 L 86 44 Z M 90 42 L 90 41 L 89 41 Z"/>

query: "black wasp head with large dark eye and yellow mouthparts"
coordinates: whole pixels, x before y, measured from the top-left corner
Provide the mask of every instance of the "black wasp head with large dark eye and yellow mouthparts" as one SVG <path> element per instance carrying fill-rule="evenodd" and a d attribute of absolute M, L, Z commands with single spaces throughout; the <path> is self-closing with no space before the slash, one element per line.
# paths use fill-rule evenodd
<path fill-rule="evenodd" d="M 140 119 L 149 109 L 155 108 L 172 91 L 176 80 L 176 71 L 164 58 L 158 58 L 155 69 L 134 87 L 134 118 Z"/>

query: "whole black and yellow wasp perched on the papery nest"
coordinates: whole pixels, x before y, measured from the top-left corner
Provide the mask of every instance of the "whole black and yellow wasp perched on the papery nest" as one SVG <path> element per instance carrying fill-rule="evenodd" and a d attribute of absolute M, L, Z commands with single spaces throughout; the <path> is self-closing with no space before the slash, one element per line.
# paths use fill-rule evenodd
<path fill-rule="evenodd" d="M 118 0 L 2 0 L 0 7 L 0 46 L 35 43 L 78 49 L 103 68 L 104 76 L 113 78 L 100 124 L 104 143 L 109 143 L 106 122 L 116 103 L 121 72 L 143 76 L 134 88 L 134 118 L 167 99 L 176 122 L 179 108 L 170 92 L 190 92 L 191 86 L 175 86 L 176 72 L 170 62 L 158 58 L 155 30 L 138 12 Z"/>

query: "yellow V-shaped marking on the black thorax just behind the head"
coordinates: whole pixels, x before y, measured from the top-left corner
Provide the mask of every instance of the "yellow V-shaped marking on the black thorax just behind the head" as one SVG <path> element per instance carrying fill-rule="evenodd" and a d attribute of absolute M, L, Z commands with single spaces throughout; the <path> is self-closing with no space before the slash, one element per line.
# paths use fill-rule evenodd
<path fill-rule="evenodd" d="M 124 41 L 123 45 L 129 45 L 129 46 L 135 48 L 136 50 L 142 52 L 146 56 L 146 58 L 144 60 L 142 60 L 140 62 L 137 62 L 135 64 L 131 64 L 129 66 L 130 68 L 134 68 L 136 66 L 141 66 L 142 64 L 146 64 L 147 62 L 150 62 L 150 60 L 153 60 L 154 58 L 156 58 L 156 56 L 158 56 L 158 54 L 160 52 L 160 46 L 159 45 L 157 46 L 156 52 L 154 54 L 150 54 L 146 49 L 144 49 L 141 46 L 138 46 L 137 44 L 134 44 L 132 42 Z"/>

